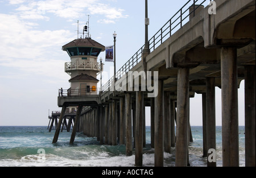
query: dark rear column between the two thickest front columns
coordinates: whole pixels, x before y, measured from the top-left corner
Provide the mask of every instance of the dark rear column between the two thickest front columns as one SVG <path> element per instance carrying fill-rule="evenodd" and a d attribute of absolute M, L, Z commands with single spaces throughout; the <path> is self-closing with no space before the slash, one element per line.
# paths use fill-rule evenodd
<path fill-rule="evenodd" d="M 207 104 L 207 158 L 209 149 L 216 150 L 216 118 L 215 118 L 215 78 L 207 77 L 207 93 L 206 93 L 206 104 Z M 216 167 L 216 162 L 208 162 L 208 167 Z"/>

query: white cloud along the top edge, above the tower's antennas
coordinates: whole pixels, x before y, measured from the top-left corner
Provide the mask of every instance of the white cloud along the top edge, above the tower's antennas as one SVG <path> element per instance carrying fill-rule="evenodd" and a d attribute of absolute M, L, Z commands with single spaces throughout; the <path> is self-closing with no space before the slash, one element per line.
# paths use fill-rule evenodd
<path fill-rule="evenodd" d="M 67 19 L 77 19 L 85 14 L 104 15 L 100 23 L 115 23 L 115 19 L 127 18 L 123 9 L 117 9 L 98 0 L 46 0 L 23 1 L 10 0 L 11 5 L 19 5 L 16 13 L 22 19 L 49 20 L 51 14 Z M 88 12 L 88 13 L 86 13 Z"/>

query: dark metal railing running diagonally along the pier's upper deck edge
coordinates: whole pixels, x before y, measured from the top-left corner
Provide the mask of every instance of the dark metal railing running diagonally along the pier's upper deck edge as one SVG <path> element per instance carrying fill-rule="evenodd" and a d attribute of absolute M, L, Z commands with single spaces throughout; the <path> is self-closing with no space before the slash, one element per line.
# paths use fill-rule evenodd
<path fill-rule="evenodd" d="M 209 1 L 209 0 L 208 0 Z M 212 1 L 212 0 L 210 0 Z M 177 13 L 156 34 L 148 40 L 150 51 L 154 51 L 159 45 L 163 44 L 172 34 L 184 26 L 189 21 L 189 16 L 195 16 L 195 11 L 199 6 L 204 5 L 207 0 L 189 0 Z M 123 75 L 130 71 L 141 61 L 144 45 L 115 73 L 115 78 L 119 80 Z M 110 78 L 104 86 L 102 92 L 106 92 L 112 86 L 114 76 Z"/>

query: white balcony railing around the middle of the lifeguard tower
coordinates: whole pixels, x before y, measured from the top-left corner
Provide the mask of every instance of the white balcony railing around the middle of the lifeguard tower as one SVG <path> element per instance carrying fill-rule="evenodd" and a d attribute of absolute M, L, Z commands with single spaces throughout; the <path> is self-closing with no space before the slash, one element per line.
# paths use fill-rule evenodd
<path fill-rule="evenodd" d="M 92 62 L 92 61 L 75 61 L 65 63 L 65 72 L 70 72 L 74 70 L 93 70 L 101 71 L 101 63 Z"/>

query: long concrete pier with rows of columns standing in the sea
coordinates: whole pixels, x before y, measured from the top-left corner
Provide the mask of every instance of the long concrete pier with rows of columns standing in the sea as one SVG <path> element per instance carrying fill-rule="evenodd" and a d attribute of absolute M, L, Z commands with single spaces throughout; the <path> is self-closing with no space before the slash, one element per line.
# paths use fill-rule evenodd
<path fill-rule="evenodd" d="M 146 56 L 142 55 L 143 46 L 117 71 L 114 81 L 122 84 L 121 91 L 113 90 L 112 78 L 94 96 L 71 96 L 68 90 L 66 96 L 59 96 L 62 111 L 52 143 L 57 142 L 67 106 L 79 106 L 71 143 L 76 132 L 81 131 L 97 137 L 101 144 L 125 144 L 126 156 L 134 154 L 135 165 L 143 166 L 147 106 L 154 165 L 164 166 L 164 151 L 170 153 L 174 149 L 175 165 L 186 167 L 189 142 L 193 141 L 189 122 L 195 119 L 189 116 L 190 98 L 195 93 L 202 97 L 203 112 L 198 113 L 203 116 L 202 156 L 208 158 L 208 151 L 216 150 L 215 113 L 220 111 L 216 110 L 219 104 L 215 103 L 215 88 L 218 87 L 222 103 L 222 165 L 237 167 L 240 165 L 237 90 L 245 80 L 246 166 L 255 166 L 255 1 L 218 0 L 216 14 L 209 14 L 209 6 L 196 6 L 193 2 L 188 3 L 190 11 L 183 7 L 176 13 L 190 12 L 187 19 L 184 15 L 176 16 L 179 21 L 174 29 L 171 18 L 148 40 Z M 138 82 L 139 91 L 135 86 L 128 90 L 126 85 L 137 80 L 132 77 L 133 81 L 129 81 L 129 72 L 148 72 L 154 76 L 147 76 L 146 84 L 143 80 Z M 146 90 L 141 88 L 144 85 Z M 215 167 L 217 163 L 208 160 L 207 166 Z"/>

